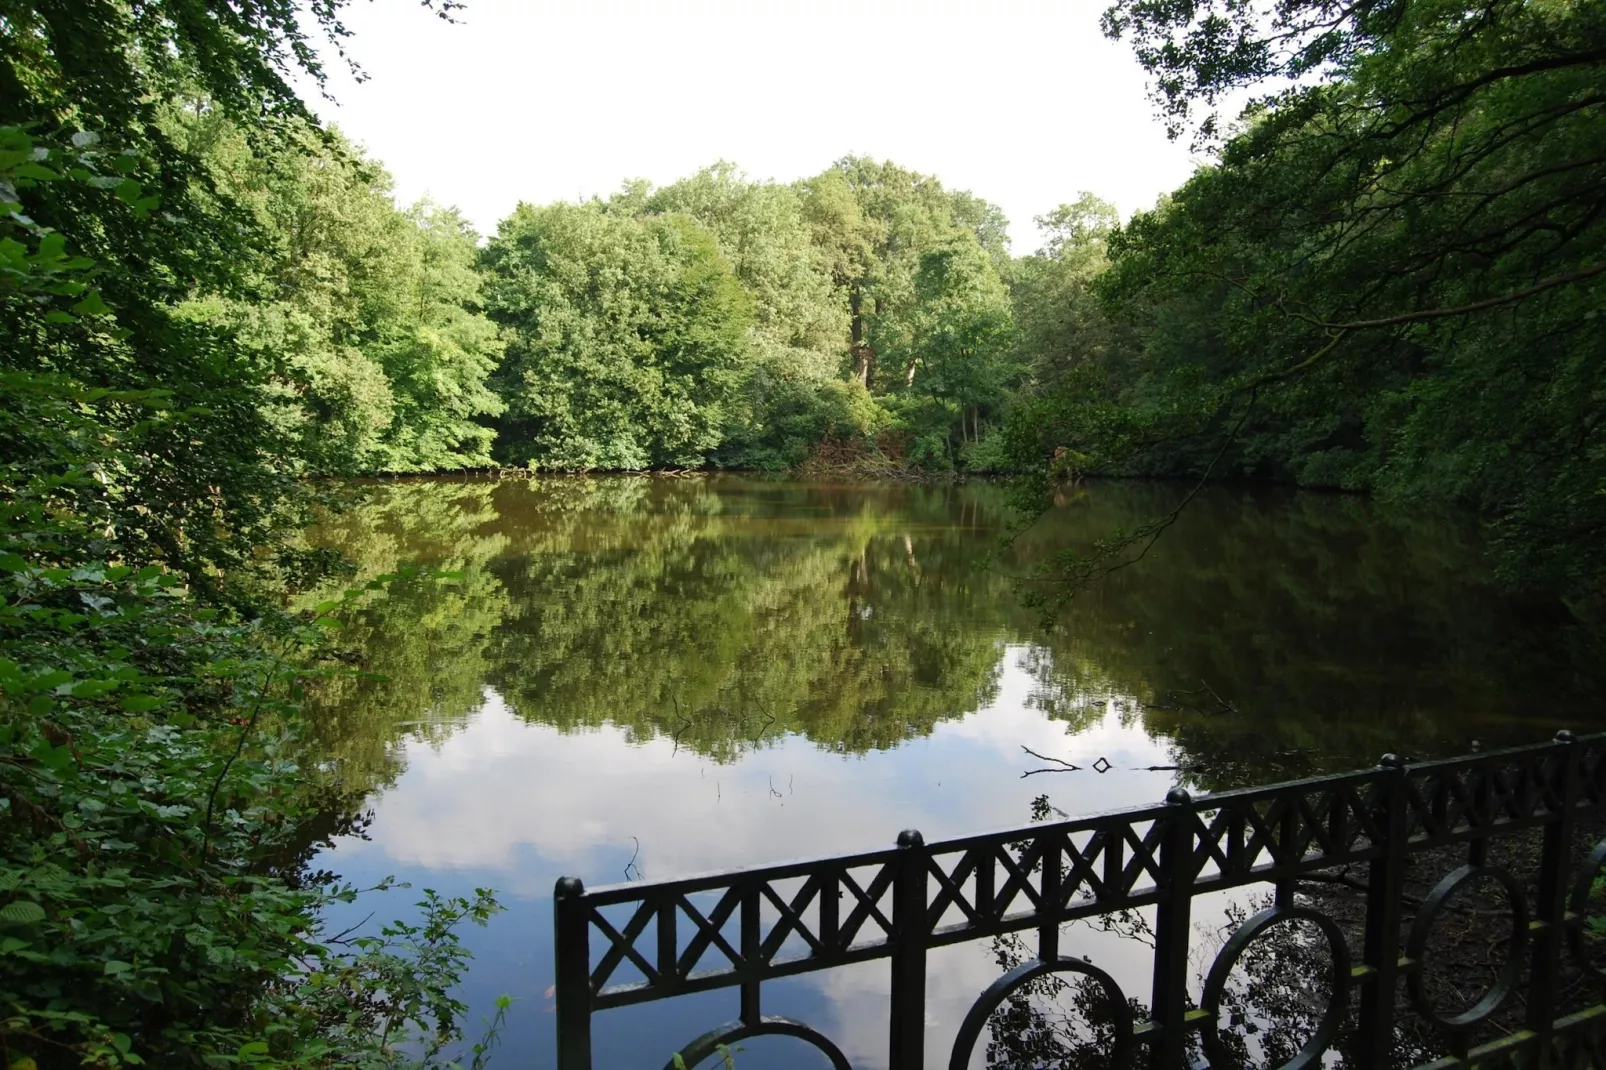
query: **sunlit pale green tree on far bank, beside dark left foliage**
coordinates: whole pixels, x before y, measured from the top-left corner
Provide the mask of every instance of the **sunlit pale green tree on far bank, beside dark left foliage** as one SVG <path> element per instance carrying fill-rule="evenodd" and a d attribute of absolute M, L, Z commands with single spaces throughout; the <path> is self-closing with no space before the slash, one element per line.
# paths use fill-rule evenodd
<path fill-rule="evenodd" d="M 271 370 L 275 416 L 315 471 L 429 471 L 490 461 L 501 353 L 479 312 L 477 236 L 432 204 L 397 209 L 390 175 L 300 120 L 255 145 L 204 108 L 173 124 L 262 236 L 238 294 L 185 308 Z"/>

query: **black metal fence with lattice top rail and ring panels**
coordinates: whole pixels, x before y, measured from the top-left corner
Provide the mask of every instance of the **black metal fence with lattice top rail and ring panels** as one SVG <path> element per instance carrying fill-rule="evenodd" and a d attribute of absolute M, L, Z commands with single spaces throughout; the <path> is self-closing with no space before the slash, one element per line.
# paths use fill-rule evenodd
<path fill-rule="evenodd" d="M 1559 733 L 1555 742 L 1537 747 L 1418 765 L 1391 755 L 1368 771 L 1200 798 L 1177 789 L 1158 807 L 940 843 L 906 831 L 890 850 L 684 880 L 586 890 L 565 877 L 556 898 L 557 1065 L 589 1070 L 591 1020 L 601 1011 L 739 988 L 739 1017 L 687 1043 L 679 1051 L 686 1067 L 721 1044 L 787 1035 L 821 1049 L 837 1070 L 848 1070 L 837 1044 L 809 1025 L 763 1014 L 763 986 L 888 959 L 888 1065 L 920 1070 L 927 1065 L 927 953 L 1021 930 L 1036 930 L 1036 959 L 980 994 L 946 1052 L 951 1070 L 970 1064 L 989 1015 L 1012 993 L 1044 975 L 1076 974 L 1090 977 L 1107 994 L 1113 1023 L 1108 1065 L 1176 1070 L 1190 1051 L 1225 1065 L 1225 1022 L 1219 1019 L 1233 964 L 1269 929 L 1299 921 L 1325 938 L 1331 974 L 1320 1023 L 1285 1065 L 1322 1065 L 1351 1014 L 1357 1015 L 1346 1048 L 1352 1064 L 1392 1065 L 1404 983 L 1408 1006 L 1442 1041 L 1444 1056 L 1423 1065 L 1606 1067 L 1606 999 L 1600 990 L 1592 1006 L 1559 1017 L 1556 1011 L 1564 954 L 1606 982 L 1606 972 L 1588 961 L 1585 938 L 1606 843 L 1587 858 L 1574 856 L 1577 823 L 1603 810 L 1606 734 Z M 1519 880 L 1489 863 L 1490 840 L 1511 835 L 1537 840 L 1537 874 Z M 1447 847 L 1465 850 L 1466 861 L 1444 876 L 1412 917 L 1404 895 L 1407 861 Z M 1354 951 L 1331 917 L 1293 895 L 1299 877 L 1336 866 L 1365 872 L 1365 930 Z M 1425 990 L 1423 961 L 1434 922 L 1450 896 L 1471 882 L 1505 888 L 1506 961 L 1481 999 L 1452 1012 L 1434 1006 Z M 1256 884 L 1275 888 L 1272 906 L 1225 941 L 1195 1004 L 1188 996 L 1195 896 Z M 1060 948 L 1065 922 L 1132 908 L 1153 909 L 1147 1017 L 1129 1011 L 1110 974 Z M 622 980 L 626 974 L 628 982 Z M 1521 1022 L 1497 1039 L 1473 1044 L 1478 1027 L 1514 994 L 1524 998 Z"/>

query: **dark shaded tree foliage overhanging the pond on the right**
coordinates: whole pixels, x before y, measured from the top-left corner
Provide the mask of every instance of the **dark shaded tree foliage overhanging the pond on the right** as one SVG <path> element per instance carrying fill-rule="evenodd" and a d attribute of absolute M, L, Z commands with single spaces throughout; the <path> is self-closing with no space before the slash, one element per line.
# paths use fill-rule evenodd
<path fill-rule="evenodd" d="M 1598 615 L 1600 11 L 1123 0 L 1107 27 L 1180 125 L 1222 93 L 1283 88 L 1110 236 L 1095 291 L 1113 333 L 1039 384 L 1013 456 L 1471 504 L 1511 580 Z M 1066 575 L 1155 533 L 1116 533 Z"/>

